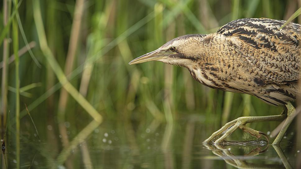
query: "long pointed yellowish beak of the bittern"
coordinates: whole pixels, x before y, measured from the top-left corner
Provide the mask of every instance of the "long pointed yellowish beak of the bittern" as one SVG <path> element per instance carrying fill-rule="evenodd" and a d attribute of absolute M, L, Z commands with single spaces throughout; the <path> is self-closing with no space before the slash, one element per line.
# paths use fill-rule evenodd
<path fill-rule="evenodd" d="M 132 60 L 128 64 L 133 65 L 133 64 L 143 63 L 143 62 L 148 62 L 148 61 L 156 61 L 156 60 L 163 59 L 166 55 L 169 55 L 169 54 L 172 54 L 172 53 L 166 53 L 162 49 L 157 49 L 153 52 L 146 53 L 140 57 L 137 57 L 136 59 Z"/>

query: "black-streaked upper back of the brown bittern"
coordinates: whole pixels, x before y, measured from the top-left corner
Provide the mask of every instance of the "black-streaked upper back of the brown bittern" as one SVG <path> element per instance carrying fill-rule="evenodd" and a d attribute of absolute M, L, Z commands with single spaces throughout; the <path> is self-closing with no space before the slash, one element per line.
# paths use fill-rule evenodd
<path fill-rule="evenodd" d="M 277 45 L 298 47 L 301 40 L 301 25 L 290 22 L 279 29 L 286 21 L 268 18 L 244 18 L 222 26 L 217 33 L 226 37 L 238 37 L 253 48 L 264 48 L 277 52 Z"/>

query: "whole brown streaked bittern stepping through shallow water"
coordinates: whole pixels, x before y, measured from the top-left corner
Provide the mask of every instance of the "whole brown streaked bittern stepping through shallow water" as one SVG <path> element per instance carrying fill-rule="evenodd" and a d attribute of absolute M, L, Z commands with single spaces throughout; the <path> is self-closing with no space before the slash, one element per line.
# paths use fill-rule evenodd
<path fill-rule="evenodd" d="M 281 28 L 285 22 L 268 18 L 234 20 L 216 33 L 172 39 L 129 64 L 160 61 L 181 66 L 194 80 L 210 88 L 250 94 L 270 105 L 282 106 L 280 115 L 238 117 L 204 141 L 223 144 L 238 128 L 259 139 L 266 135 L 247 123 L 285 120 L 272 143 L 280 144 L 296 115 L 291 102 L 300 93 L 301 76 L 301 25 L 289 22 Z"/>

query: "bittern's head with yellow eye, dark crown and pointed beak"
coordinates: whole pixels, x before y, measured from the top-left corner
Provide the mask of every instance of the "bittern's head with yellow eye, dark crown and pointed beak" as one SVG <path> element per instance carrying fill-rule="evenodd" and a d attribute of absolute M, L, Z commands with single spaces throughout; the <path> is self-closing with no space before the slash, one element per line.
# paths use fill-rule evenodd
<path fill-rule="evenodd" d="M 157 50 L 146 53 L 129 62 L 130 65 L 148 61 L 160 61 L 172 65 L 186 67 L 189 63 L 199 59 L 201 41 L 205 35 L 190 34 L 175 38 Z"/>

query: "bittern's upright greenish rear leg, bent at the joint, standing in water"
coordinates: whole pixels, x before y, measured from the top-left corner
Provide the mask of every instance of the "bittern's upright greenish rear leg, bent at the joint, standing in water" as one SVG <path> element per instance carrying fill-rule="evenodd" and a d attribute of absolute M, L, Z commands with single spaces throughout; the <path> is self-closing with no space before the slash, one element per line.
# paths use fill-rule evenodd
<path fill-rule="evenodd" d="M 279 134 L 277 135 L 276 139 L 274 140 L 273 145 L 278 145 L 280 143 L 286 130 L 289 128 L 290 123 L 294 120 L 294 117 L 296 116 L 296 109 L 291 103 L 287 103 L 285 106 L 287 108 L 287 118 L 286 118 Z"/>

